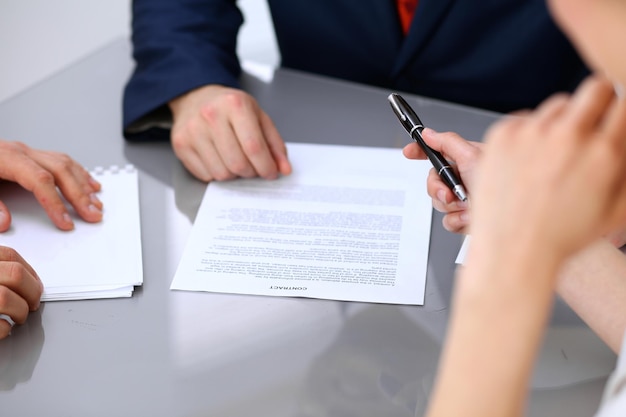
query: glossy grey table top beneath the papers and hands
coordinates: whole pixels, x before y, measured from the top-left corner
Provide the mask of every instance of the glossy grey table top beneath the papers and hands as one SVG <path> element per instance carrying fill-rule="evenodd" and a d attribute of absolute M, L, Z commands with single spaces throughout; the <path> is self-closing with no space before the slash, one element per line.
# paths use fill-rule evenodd
<path fill-rule="evenodd" d="M 0 416 L 421 415 L 460 237 L 435 214 L 419 307 L 170 291 L 205 185 L 169 144 L 123 140 L 131 68 L 119 40 L 0 103 L 2 138 L 139 168 L 145 272 L 132 298 L 49 302 L 0 341 Z M 244 83 L 287 141 L 406 143 L 388 91 L 287 70 Z M 497 117 L 407 97 L 427 124 L 469 139 Z M 542 358 L 528 415 L 592 415 L 615 358 L 560 302 Z"/>

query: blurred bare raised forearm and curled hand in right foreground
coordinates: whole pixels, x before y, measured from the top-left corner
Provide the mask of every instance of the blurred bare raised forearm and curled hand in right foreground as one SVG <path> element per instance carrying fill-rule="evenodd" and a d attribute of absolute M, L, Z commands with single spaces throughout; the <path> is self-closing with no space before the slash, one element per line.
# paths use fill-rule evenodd
<path fill-rule="evenodd" d="M 624 128 L 626 103 L 592 78 L 490 129 L 430 417 L 523 414 L 562 266 L 625 226 Z"/>

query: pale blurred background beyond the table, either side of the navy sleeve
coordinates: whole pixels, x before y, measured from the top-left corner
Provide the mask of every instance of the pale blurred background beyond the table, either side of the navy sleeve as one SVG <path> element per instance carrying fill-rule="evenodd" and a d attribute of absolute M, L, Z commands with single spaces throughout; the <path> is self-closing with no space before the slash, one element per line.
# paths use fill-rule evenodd
<path fill-rule="evenodd" d="M 245 23 L 238 52 L 276 66 L 278 50 L 263 0 L 239 0 Z M 130 37 L 130 0 L 0 0 L 0 102 Z"/>

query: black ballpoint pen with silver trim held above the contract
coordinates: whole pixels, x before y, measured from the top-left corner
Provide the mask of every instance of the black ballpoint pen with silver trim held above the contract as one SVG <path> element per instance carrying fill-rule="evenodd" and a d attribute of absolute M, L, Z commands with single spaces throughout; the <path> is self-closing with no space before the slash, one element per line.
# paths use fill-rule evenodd
<path fill-rule="evenodd" d="M 466 201 L 467 193 L 465 192 L 465 187 L 463 187 L 463 184 L 457 178 L 448 161 L 445 160 L 443 155 L 426 145 L 426 142 L 424 142 L 424 139 L 422 138 L 424 125 L 422 124 L 420 118 L 417 117 L 417 114 L 415 114 L 411 106 L 409 106 L 402 96 L 396 93 L 389 94 L 387 99 L 389 100 L 389 103 L 391 103 L 391 108 L 396 116 L 398 116 L 402 126 L 404 126 L 411 139 L 417 142 L 424 153 L 426 153 L 426 156 L 437 170 L 437 173 L 443 182 L 450 187 L 454 195 L 456 195 L 459 200 Z"/>

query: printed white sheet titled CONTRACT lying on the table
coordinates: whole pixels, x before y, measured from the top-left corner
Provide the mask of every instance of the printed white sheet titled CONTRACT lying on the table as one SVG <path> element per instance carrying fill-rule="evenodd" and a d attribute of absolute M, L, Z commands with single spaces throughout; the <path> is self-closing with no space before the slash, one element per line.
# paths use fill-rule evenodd
<path fill-rule="evenodd" d="M 171 289 L 423 304 L 430 163 L 287 147 L 289 176 L 208 185 Z"/>

